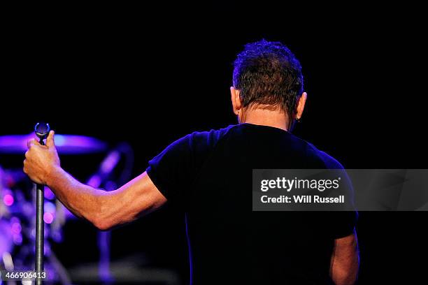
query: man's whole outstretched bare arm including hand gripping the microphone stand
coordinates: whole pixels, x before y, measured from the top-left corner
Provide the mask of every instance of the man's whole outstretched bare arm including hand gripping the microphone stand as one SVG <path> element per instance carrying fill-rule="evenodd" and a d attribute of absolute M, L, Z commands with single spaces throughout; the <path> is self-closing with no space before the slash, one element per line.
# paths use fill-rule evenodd
<path fill-rule="evenodd" d="M 108 192 L 78 182 L 59 165 L 53 136 L 51 132 L 45 146 L 36 140 L 29 141 L 24 172 L 34 182 L 48 185 L 76 216 L 106 230 L 133 221 L 166 202 L 147 173 L 139 175 L 120 189 Z"/>

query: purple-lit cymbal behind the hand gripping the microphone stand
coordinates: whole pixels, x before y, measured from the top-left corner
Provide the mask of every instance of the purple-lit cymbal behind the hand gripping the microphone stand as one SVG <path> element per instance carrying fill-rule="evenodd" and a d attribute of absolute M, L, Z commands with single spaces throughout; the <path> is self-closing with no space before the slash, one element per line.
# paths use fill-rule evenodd
<path fill-rule="evenodd" d="M 0 136 L 0 153 L 24 154 L 27 151 L 27 141 L 31 138 L 36 138 L 34 133 Z M 106 142 L 97 138 L 57 134 L 55 134 L 55 146 L 59 154 L 91 154 L 104 152 L 108 147 Z"/>

